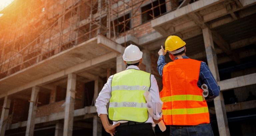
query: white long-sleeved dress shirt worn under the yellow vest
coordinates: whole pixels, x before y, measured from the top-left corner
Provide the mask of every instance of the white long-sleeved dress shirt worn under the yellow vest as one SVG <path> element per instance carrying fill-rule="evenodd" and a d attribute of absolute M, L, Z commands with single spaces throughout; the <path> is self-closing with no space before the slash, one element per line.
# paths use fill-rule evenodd
<path fill-rule="evenodd" d="M 137 69 L 137 70 L 139 70 L 139 67 L 134 66 L 134 65 L 130 65 L 126 68 L 126 70 L 127 69 Z M 108 78 L 107 83 L 104 85 L 104 87 L 102 88 L 102 90 L 99 93 L 98 98 L 96 99 L 95 106 L 97 108 L 97 112 L 98 112 L 99 116 L 100 116 L 100 114 L 108 114 L 106 105 L 109 102 L 110 97 L 111 97 L 112 78 L 113 78 L 113 75 Z M 152 123 L 152 125 L 155 126 L 153 118 L 155 120 L 159 120 L 160 117 L 162 116 L 163 102 L 160 100 L 158 85 L 157 85 L 157 82 L 156 82 L 156 79 L 155 79 L 154 75 L 150 76 L 150 82 L 151 82 L 151 86 L 150 86 L 150 89 L 149 89 L 149 93 L 151 95 L 151 103 L 152 103 L 152 108 L 153 108 L 154 115 L 152 117 L 148 114 L 148 120 L 145 123 Z M 128 122 L 128 121 L 118 121 L 118 122 L 125 123 L 125 122 Z M 113 124 L 116 124 L 118 122 L 113 121 Z"/>

